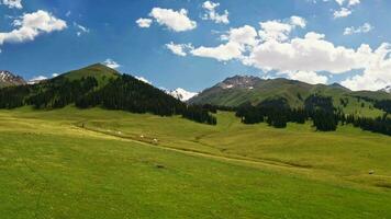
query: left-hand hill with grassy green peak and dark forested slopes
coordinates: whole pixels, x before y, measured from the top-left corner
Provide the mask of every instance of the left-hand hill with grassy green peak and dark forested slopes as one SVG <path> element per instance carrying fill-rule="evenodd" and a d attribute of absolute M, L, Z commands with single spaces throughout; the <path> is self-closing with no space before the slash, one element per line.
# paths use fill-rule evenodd
<path fill-rule="evenodd" d="M 180 92 L 182 92 L 180 90 Z M 178 93 L 186 99 L 189 93 Z M 35 84 L 0 89 L 0 108 L 31 105 L 55 110 L 67 105 L 79 108 L 102 107 L 160 116 L 182 115 L 188 119 L 214 125 L 214 116 L 200 107 L 187 105 L 166 92 L 133 76 L 121 74 L 96 64 L 63 73 Z"/>

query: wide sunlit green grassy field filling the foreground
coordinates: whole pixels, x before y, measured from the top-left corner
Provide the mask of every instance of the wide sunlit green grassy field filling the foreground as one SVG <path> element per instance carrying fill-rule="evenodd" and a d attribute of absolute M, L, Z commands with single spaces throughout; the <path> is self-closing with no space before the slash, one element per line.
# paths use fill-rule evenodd
<path fill-rule="evenodd" d="M 0 111 L 0 216 L 391 218 L 390 137 L 217 116 Z"/>

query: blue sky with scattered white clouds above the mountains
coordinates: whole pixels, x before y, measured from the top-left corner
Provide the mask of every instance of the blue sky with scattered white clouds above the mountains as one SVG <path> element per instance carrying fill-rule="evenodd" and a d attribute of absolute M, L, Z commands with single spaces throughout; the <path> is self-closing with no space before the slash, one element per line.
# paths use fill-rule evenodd
<path fill-rule="evenodd" d="M 158 88 L 235 74 L 391 85 L 388 0 L 0 0 L 0 69 L 51 78 L 102 62 Z"/>

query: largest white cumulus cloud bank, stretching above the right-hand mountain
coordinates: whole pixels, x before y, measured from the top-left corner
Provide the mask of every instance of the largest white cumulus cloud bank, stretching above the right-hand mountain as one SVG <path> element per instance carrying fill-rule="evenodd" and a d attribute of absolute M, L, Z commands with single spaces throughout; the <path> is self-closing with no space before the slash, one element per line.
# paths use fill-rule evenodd
<path fill-rule="evenodd" d="M 358 48 L 338 46 L 315 32 L 292 37 L 292 30 L 304 24 L 290 18 L 261 22 L 258 31 L 249 25 L 231 28 L 221 35 L 222 44 L 199 46 L 189 54 L 219 61 L 239 60 L 266 73 L 277 71 L 308 83 L 326 83 L 331 74 L 357 72 L 342 84 L 351 90 L 379 90 L 391 84 L 391 44 L 373 50 L 366 44 Z M 368 28 L 361 27 L 360 32 Z"/>

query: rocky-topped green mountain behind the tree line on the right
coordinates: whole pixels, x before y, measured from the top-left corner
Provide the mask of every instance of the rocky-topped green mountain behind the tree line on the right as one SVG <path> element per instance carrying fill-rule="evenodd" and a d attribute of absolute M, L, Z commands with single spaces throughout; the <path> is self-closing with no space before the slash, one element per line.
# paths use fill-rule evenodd
<path fill-rule="evenodd" d="M 298 107 L 302 106 L 304 100 L 311 94 L 332 96 L 335 105 L 340 104 L 340 99 L 362 99 L 368 101 L 391 99 L 391 95 L 384 92 L 353 92 L 338 83 L 329 85 L 309 84 L 283 78 L 264 80 L 252 76 L 235 76 L 202 91 L 190 99 L 189 103 L 238 106 L 247 102 L 257 105 L 268 99 L 283 97 L 290 106 Z M 353 103 L 353 100 L 350 102 Z M 359 105 L 358 103 L 355 104 Z"/>

